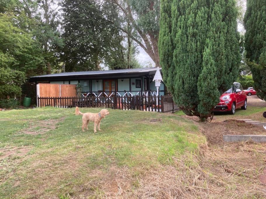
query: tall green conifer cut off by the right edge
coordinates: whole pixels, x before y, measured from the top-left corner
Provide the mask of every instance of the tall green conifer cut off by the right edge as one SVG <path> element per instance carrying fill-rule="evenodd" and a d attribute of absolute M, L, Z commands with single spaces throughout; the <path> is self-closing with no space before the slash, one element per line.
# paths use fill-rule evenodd
<path fill-rule="evenodd" d="M 266 1 L 247 0 L 244 17 L 245 50 L 251 68 L 254 88 L 266 101 Z"/>

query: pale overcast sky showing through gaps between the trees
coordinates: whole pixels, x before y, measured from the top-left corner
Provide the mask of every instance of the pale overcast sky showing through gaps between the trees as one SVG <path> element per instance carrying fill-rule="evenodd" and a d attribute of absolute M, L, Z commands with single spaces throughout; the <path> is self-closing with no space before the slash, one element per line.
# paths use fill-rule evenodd
<path fill-rule="evenodd" d="M 243 11 L 245 11 L 246 10 L 246 0 L 243 0 L 242 3 L 243 3 L 242 6 L 244 8 Z M 244 32 L 243 24 L 238 24 L 237 28 L 238 28 L 239 32 L 242 32 L 242 33 Z M 143 48 L 140 46 L 138 47 L 138 49 L 139 49 L 140 53 L 137 55 L 137 59 L 140 62 L 140 64 L 143 66 L 149 66 L 149 65 L 155 66 L 154 62 L 149 57 L 149 55 L 145 52 L 145 50 L 143 50 Z"/>

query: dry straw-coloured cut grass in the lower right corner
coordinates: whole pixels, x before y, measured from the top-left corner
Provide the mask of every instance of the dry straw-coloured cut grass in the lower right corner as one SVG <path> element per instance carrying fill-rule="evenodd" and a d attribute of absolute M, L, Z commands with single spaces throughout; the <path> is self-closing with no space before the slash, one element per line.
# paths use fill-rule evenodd
<path fill-rule="evenodd" d="M 202 147 L 203 156 L 175 159 L 139 177 L 140 186 L 127 198 L 257 198 L 266 197 L 258 180 L 264 146 L 241 143 L 224 148 Z M 251 152 L 247 152 L 247 149 Z M 263 151 L 265 152 L 265 151 Z"/>

